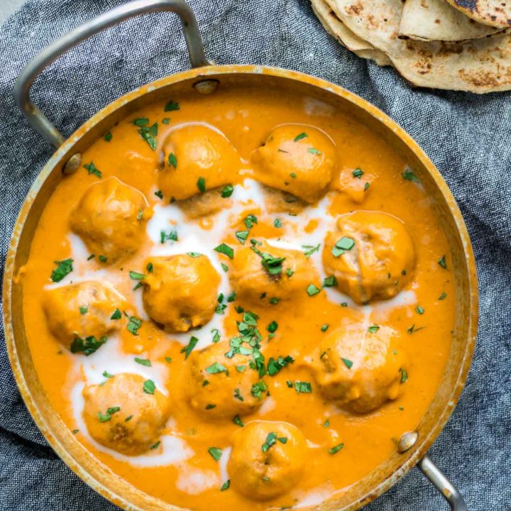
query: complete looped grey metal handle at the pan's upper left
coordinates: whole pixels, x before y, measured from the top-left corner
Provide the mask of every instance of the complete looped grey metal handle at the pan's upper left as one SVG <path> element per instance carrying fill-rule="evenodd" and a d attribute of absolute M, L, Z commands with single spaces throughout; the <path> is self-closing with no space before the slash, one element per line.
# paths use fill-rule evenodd
<path fill-rule="evenodd" d="M 65 141 L 65 138 L 38 107 L 31 102 L 30 89 L 40 72 L 56 60 L 57 57 L 60 57 L 62 53 L 65 53 L 91 35 L 102 31 L 104 28 L 109 28 L 133 16 L 155 11 L 172 11 L 176 13 L 181 19 L 182 29 L 185 33 L 190 64 L 192 67 L 209 65 L 204 54 L 204 45 L 202 44 L 197 20 L 192 10 L 183 0 L 136 0 L 116 7 L 116 9 L 111 9 L 111 11 L 101 14 L 101 16 L 87 21 L 87 23 L 83 23 L 83 25 L 78 26 L 70 33 L 63 35 L 41 53 L 35 55 L 16 80 L 14 85 L 16 103 L 26 116 L 28 122 L 40 133 L 45 141 L 58 148 Z"/>

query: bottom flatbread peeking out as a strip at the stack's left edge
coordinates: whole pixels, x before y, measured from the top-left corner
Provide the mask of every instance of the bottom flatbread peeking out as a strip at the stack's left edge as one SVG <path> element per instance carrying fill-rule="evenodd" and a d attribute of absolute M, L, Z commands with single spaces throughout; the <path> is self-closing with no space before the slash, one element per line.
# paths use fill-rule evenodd
<path fill-rule="evenodd" d="M 385 53 L 376 50 L 373 45 L 359 38 L 346 28 L 344 23 L 339 21 L 339 18 L 332 12 L 325 0 L 312 0 L 312 9 L 325 30 L 330 35 L 333 35 L 341 45 L 348 48 L 348 50 L 351 50 L 358 57 L 374 60 L 380 66 L 392 65 L 392 62 L 390 62 L 389 57 Z"/>

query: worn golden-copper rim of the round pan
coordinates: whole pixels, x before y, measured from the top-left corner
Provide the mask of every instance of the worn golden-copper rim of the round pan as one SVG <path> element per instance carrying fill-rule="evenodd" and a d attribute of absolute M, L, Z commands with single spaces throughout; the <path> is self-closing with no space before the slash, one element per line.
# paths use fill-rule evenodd
<path fill-rule="evenodd" d="M 417 157 L 421 165 L 427 170 L 429 175 L 432 176 L 436 187 L 439 188 L 441 195 L 444 197 L 444 200 L 449 207 L 449 211 L 451 213 L 452 218 L 454 219 L 454 223 L 456 224 L 456 229 L 458 231 L 458 235 L 461 238 L 463 243 L 463 253 L 465 256 L 465 264 L 466 264 L 466 273 L 468 280 L 468 329 L 467 329 L 467 343 L 466 349 L 463 353 L 463 359 L 460 363 L 460 366 L 457 370 L 458 376 L 456 378 L 456 383 L 452 386 L 449 392 L 449 400 L 446 407 L 441 410 L 438 417 L 436 418 L 436 422 L 429 429 L 429 432 L 425 436 L 422 436 L 419 439 L 419 445 L 417 448 L 414 448 L 412 455 L 406 458 L 398 468 L 391 473 L 389 476 L 380 480 L 374 488 L 367 495 L 358 499 L 356 502 L 351 502 L 350 504 L 342 507 L 339 511 L 354 511 L 363 507 L 363 505 L 368 504 L 371 500 L 378 498 L 380 495 L 389 490 L 395 483 L 397 483 L 402 476 L 410 471 L 419 461 L 424 454 L 426 454 L 429 447 L 433 444 L 434 440 L 437 436 L 439 436 L 441 430 L 444 428 L 446 422 L 451 417 L 452 412 L 454 411 L 454 407 L 456 407 L 456 403 L 458 402 L 461 392 L 466 383 L 466 378 L 468 376 L 468 370 L 471 366 L 471 361 L 473 358 L 473 350 L 475 348 L 476 343 L 476 334 L 477 334 L 477 324 L 478 324 L 478 279 L 476 273 L 476 262 L 473 255 L 473 249 L 471 245 L 471 240 L 468 235 L 468 229 L 466 228 L 465 221 L 463 220 L 463 216 L 461 215 L 461 211 L 456 204 L 456 200 L 451 193 L 448 185 L 446 184 L 444 178 L 441 176 L 439 170 L 432 163 L 424 151 L 419 147 L 417 142 L 408 135 L 408 133 L 401 128 L 395 121 L 392 121 L 389 116 L 380 111 L 376 106 L 370 104 L 365 99 L 358 97 L 356 94 L 349 92 L 348 90 L 340 87 L 339 85 L 332 84 L 324 79 L 318 77 L 312 77 L 310 75 L 306 75 L 301 72 L 285 70 L 279 67 L 267 67 L 260 65 L 211 65 L 207 67 L 198 67 L 191 70 L 187 70 L 184 72 L 179 72 L 173 75 L 169 75 L 167 77 L 163 77 L 161 79 L 155 80 L 150 84 L 143 85 L 138 89 L 133 90 L 132 92 L 128 92 L 128 94 L 123 95 L 119 99 L 116 99 L 111 104 L 105 106 L 103 109 L 94 114 L 89 120 L 87 120 L 82 126 L 80 126 L 72 135 L 67 138 L 67 140 L 58 148 L 55 153 L 51 156 L 50 160 L 44 165 L 43 169 L 40 170 L 38 176 L 33 182 L 31 189 L 29 190 L 25 201 L 23 202 L 23 206 L 21 207 L 21 211 L 18 214 L 18 218 L 16 219 L 16 224 L 13 229 L 13 235 L 11 237 L 11 241 L 9 244 L 9 249 L 6 255 L 6 264 L 4 270 L 4 286 L 3 286 L 3 302 L 4 302 L 4 331 L 6 336 L 6 347 L 9 354 L 9 361 L 11 363 L 11 368 L 13 370 L 16 384 L 18 385 L 18 389 L 21 392 L 21 396 L 23 397 L 23 401 L 25 402 L 28 411 L 31 413 L 38 429 L 43 433 L 45 438 L 50 443 L 50 446 L 55 450 L 57 455 L 64 461 L 67 466 L 69 466 L 72 471 L 74 471 L 79 478 L 81 478 L 85 483 L 91 486 L 97 493 L 104 496 L 105 498 L 114 502 L 114 504 L 122 507 L 124 510 L 129 511 L 143 511 L 141 507 L 137 505 L 133 505 L 123 495 L 118 495 L 114 490 L 109 487 L 106 487 L 101 481 L 99 481 L 92 473 L 89 473 L 82 465 L 77 461 L 72 454 L 70 454 L 65 446 L 62 445 L 60 439 L 53 435 L 50 426 L 48 425 L 47 420 L 44 415 L 40 412 L 38 405 L 35 403 L 33 396 L 31 395 L 31 390 L 26 381 L 25 375 L 23 374 L 23 369 L 21 367 L 20 359 L 18 358 L 18 353 L 16 352 L 16 341 L 14 339 L 14 331 L 13 324 L 11 321 L 12 317 L 12 302 L 11 302 L 11 290 L 12 290 L 12 282 L 15 277 L 15 260 L 16 253 L 18 249 L 18 242 L 21 237 L 21 233 L 23 231 L 23 227 L 25 226 L 26 219 L 28 218 L 28 214 L 31 210 L 31 204 L 33 203 L 34 198 L 40 191 L 40 188 L 43 186 L 43 183 L 48 178 L 50 173 L 53 171 L 55 166 L 57 166 L 66 155 L 70 153 L 73 146 L 77 141 L 82 138 L 86 133 L 92 130 L 94 126 L 97 125 L 100 121 L 108 117 L 113 111 L 116 111 L 124 104 L 127 104 L 138 97 L 142 97 L 148 92 L 152 92 L 155 89 L 160 89 L 163 87 L 167 87 L 170 84 L 174 84 L 177 82 L 182 82 L 189 79 L 209 79 L 214 78 L 215 75 L 233 75 L 233 74 L 245 74 L 245 75 L 270 75 L 272 77 L 280 77 L 284 79 L 291 79 L 298 82 L 302 82 L 305 84 L 312 85 L 313 87 L 317 87 L 319 89 L 323 89 L 326 92 L 331 92 L 336 94 L 337 96 L 345 99 L 346 101 L 351 102 L 358 106 L 359 109 L 366 111 L 366 113 L 373 116 L 376 121 L 383 124 L 385 128 L 390 129 L 397 138 L 407 145 L 412 153 Z M 134 488 L 134 487 L 133 487 Z M 160 502 L 161 500 L 157 500 L 150 495 L 143 493 L 142 490 L 138 490 L 138 488 L 134 488 L 136 492 L 140 492 L 144 495 L 144 498 L 147 500 L 152 500 L 155 504 Z M 329 501 L 326 501 L 329 502 Z M 170 509 L 170 510 L 183 510 L 184 508 L 176 507 L 170 504 L 165 503 L 165 507 L 161 509 Z M 312 509 L 312 508 L 311 508 Z M 315 506 L 315 509 L 322 509 L 322 505 Z"/>

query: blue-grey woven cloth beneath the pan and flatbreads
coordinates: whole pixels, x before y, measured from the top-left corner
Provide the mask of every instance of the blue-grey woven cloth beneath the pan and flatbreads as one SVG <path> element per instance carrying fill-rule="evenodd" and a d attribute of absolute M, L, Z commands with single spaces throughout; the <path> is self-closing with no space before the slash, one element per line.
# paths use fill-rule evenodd
<path fill-rule="evenodd" d="M 0 246 L 3 268 L 23 197 L 51 149 L 13 101 L 16 76 L 45 45 L 116 0 L 30 0 L 0 28 Z M 431 450 L 472 511 L 511 509 L 511 97 L 411 89 L 341 48 L 307 0 L 191 0 L 218 63 L 287 67 L 340 84 L 400 123 L 449 183 L 471 233 L 480 277 L 476 354 L 461 402 Z M 187 67 L 171 14 L 123 23 L 60 58 L 33 99 L 65 135 L 101 106 Z M 339 468 L 344 470 L 349 468 Z M 0 339 L 0 509 L 111 511 L 62 463 L 26 411 Z M 414 469 L 368 510 L 445 510 Z M 213 510 L 217 511 L 217 510 Z"/>

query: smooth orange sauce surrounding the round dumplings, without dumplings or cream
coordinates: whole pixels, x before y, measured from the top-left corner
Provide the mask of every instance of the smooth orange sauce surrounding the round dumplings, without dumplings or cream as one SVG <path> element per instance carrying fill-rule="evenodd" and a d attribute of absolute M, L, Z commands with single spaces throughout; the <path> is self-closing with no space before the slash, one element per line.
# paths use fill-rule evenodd
<path fill-rule="evenodd" d="M 35 369 L 55 412 L 70 430 L 79 429 L 77 441 L 111 471 L 156 498 L 198 511 L 257 511 L 268 507 L 287 507 L 300 504 L 314 492 L 320 498 L 326 498 L 352 485 L 385 461 L 397 449 L 396 439 L 417 427 L 432 402 L 449 355 L 455 312 L 449 246 L 441 224 L 420 184 L 403 178 L 407 162 L 362 123 L 340 112 L 324 109 L 306 97 L 281 97 L 272 92 L 250 89 L 229 91 L 220 88 L 209 97 L 195 94 L 169 99 L 179 104 L 179 110 L 165 112 L 165 103 L 148 106 L 112 126 L 111 140 L 100 138 L 84 151 L 82 163 L 94 162 L 101 178 L 94 173 L 89 174 L 83 167 L 62 177 L 40 217 L 31 255 L 21 275 L 26 333 Z M 77 260 L 73 255 L 69 224 L 70 212 L 87 187 L 111 176 L 142 192 L 153 209 L 169 204 L 170 197 L 160 199 L 155 195 L 160 172 L 158 150 L 153 150 L 141 138 L 138 127 L 133 124 L 133 119 L 142 117 L 148 118 L 150 125 L 158 122 L 158 135 L 155 137 L 158 148 L 166 133 L 178 124 L 200 122 L 214 126 L 236 148 L 243 161 L 242 167 L 246 168 L 251 166 L 249 160 L 253 150 L 265 141 L 275 126 L 298 123 L 319 128 L 334 141 L 339 155 L 337 175 L 334 176 L 326 207 L 329 214 L 337 217 L 356 210 L 384 211 L 404 222 L 412 237 L 416 262 L 410 282 L 400 293 L 412 292 L 414 300 L 411 302 L 395 300 L 391 307 L 378 307 L 381 304 L 385 306 L 384 301 L 371 302 L 369 307 L 375 307 L 366 308 L 363 312 L 363 307 L 351 301 L 347 307 L 344 306 L 345 300 L 341 295 L 338 300 L 332 300 L 331 292 L 327 294 L 321 282 L 317 281 L 320 289 L 317 295 L 309 296 L 304 290 L 303 295 L 292 302 L 282 300 L 271 306 L 249 306 L 236 300 L 225 302 L 227 307 L 221 317 L 224 325 L 222 339 L 236 335 L 236 321 L 241 320 L 241 315 L 235 307 L 242 305 L 258 314 L 258 328 L 264 338 L 261 351 L 266 360 L 289 354 L 295 359 L 277 375 L 262 378 L 268 385 L 272 405 L 263 405 L 258 411 L 243 417 L 244 423 L 254 419 L 289 422 L 300 429 L 308 441 L 309 449 L 300 482 L 290 492 L 276 498 L 252 500 L 232 486 L 221 491 L 224 481 L 219 462 L 208 449 L 211 446 L 219 449 L 231 446 L 232 436 L 240 427 L 231 419 L 206 420 L 192 410 L 185 392 L 187 383 L 183 381 L 188 362 L 185 353 L 182 353 L 183 345 L 150 319 L 143 320 L 138 335 L 127 331 L 126 323 L 123 323 L 119 334 L 121 350 L 127 357 L 139 356 L 152 361 L 153 366 L 158 363 L 163 367 L 161 374 L 171 403 L 172 424 L 169 428 L 185 442 L 193 452 L 192 456 L 175 464 L 137 466 L 126 457 L 114 456 L 110 451 L 101 449 L 77 424 L 72 392 L 77 383 L 84 383 L 87 378 L 84 370 L 79 369 L 85 356 L 70 353 L 50 333 L 42 307 L 43 289 L 51 284 L 54 261 L 74 257 L 74 271 L 77 273 L 101 271 L 100 280 L 108 280 L 109 275 L 115 275 L 116 289 L 126 298 L 132 311 L 138 311 L 138 316 L 142 314 L 142 290 L 133 290 L 137 282 L 129 278 L 128 272 L 143 272 L 148 255 L 158 242 L 145 238 L 136 253 L 105 270 L 97 255 L 89 261 Z M 163 119 L 170 121 L 163 123 Z M 357 168 L 364 172 L 360 179 L 353 177 Z M 238 175 L 237 171 L 237 168 L 232 169 L 231 182 L 235 185 L 243 180 L 243 173 Z M 207 185 L 209 176 L 204 177 Z M 243 219 L 247 214 L 258 216 L 258 224 L 251 227 L 248 238 L 277 238 L 282 228 L 275 227 L 275 218 L 279 218 L 282 224 L 287 221 L 285 213 L 263 214 L 260 204 L 243 209 L 238 218 L 230 222 L 229 229 L 219 233 L 221 240 L 234 248 L 234 258 L 241 248 L 234 233 L 246 229 Z M 312 233 L 321 221 L 317 217 L 307 220 L 305 232 Z M 206 231 L 216 229 L 214 215 L 190 222 L 201 224 Z M 177 246 L 180 242 L 175 243 Z M 226 255 L 207 255 L 218 258 L 231 271 L 231 260 Z M 443 256 L 447 270 L 438 263 Z M 72 276 L 73 273 L 68 278 L 72 280 Z M 440 299 L 444 294 L 445 297 Z M 319 392 L 307 360 L 329 331 L 346 322 L 361 322 L 364 314 L 368 314 L 368 324 L 392 326 L 401 334 L 402 349 L 407 356 L 407 380 L 402 383 L 402 394 L 396 400 L 385 402 L 373 412 L 357 414 L 337 407 Z M 278 322 L 278 329 L 273 339 L 268 341 L 265 327 L 273 321 Z M 322 331 L 324 324 L 329 325 L 326 332 Z M 209 331 L 208 325 L 203 330 Z M 188 334 L 196 333 L 192 330 Z M 99 348 L 94 355 L 99 357 L 104 349 L 104 346 Z M 171 362 L 165 361 L 165 357 Z M 109 371 L 109 360 L 100 365 Z M 288 387 L 287 380 L 309 382 L 312 392 L 297 393 L 294 387 Z M 334 454 L 329 452 L 341 443 L 344 444 L 342 449 Z M 161 447 L 154 450 L 154 455 L 158 455 L 158 449 Z M 148 454 L 152 455 L 152 452 Z M 212 485 L 206 484 L 205 488 L 195 485 L 192 491 L 189 490 L 190 485 L 177 483 L 180 478 L 187 480 L 193 473 L 207 473 L 210 479 L 215 477 L 218 480 Z"/>

